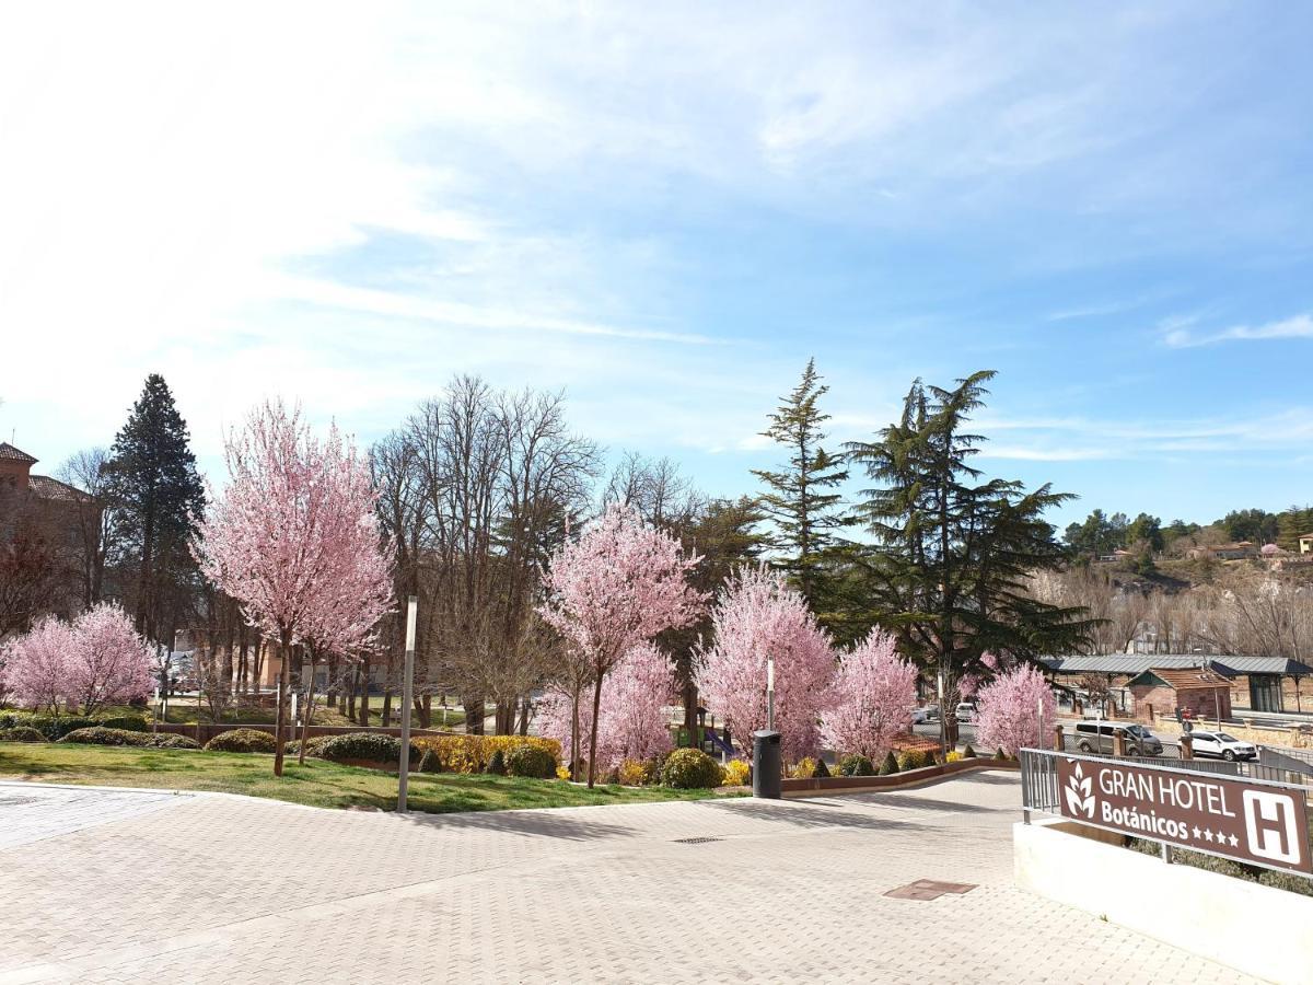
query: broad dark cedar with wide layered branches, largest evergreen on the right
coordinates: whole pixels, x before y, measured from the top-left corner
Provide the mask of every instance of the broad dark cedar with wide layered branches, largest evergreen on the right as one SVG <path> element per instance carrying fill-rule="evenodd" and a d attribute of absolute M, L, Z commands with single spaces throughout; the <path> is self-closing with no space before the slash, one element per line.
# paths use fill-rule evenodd
<path fill-rule="evenodd" d="M 974 373 L 952 390 L 918 380 L 898 423 L 848 444 L 850 461 L 877 483 L 857 510 L 874 537 L 856 554 L 871 615 L 927 676 L 943 678 L 949 697 L 964 674 L 989 675 L 985 654 L 1069 653 L 1091 625 L 1082 609 L 1027 591 L 1033 571 L 1062 563 L 1044 512 L 1071 496 L 986 479 L 972 465 L 983 439 L 964 428 L 993 376 Z"/>

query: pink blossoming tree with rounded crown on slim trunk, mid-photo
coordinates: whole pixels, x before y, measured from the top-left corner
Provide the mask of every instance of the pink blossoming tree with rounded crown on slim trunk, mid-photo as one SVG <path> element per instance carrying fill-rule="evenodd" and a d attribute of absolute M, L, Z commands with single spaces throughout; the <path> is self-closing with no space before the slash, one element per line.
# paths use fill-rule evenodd
<path fill-rule="evenodd" d="M 685 557 L 678 540 L 618 504 L 551 557 L 540 612 L 566 638 L 592 683 L 590 787 L 597 766 L 603 683 L 629 650 L 697 619 L 705 596 L 687 580 L 696 566 L 697 557 Z"/>

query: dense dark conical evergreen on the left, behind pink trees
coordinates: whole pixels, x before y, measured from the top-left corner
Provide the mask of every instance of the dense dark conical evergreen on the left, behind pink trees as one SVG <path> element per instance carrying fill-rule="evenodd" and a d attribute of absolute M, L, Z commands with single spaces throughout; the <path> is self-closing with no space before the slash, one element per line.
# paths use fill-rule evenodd
<path fill-rule="evenodd" d="M 205 507 L 205 487 L 186 422 L 158 373 L 146 377 L 140 398 L 114 437 L 106 468 L 126 556 L 121 594 L 137 630 L 172 645 L 198 587 L 188 542 L 192 517 L 200 517 Z"/>

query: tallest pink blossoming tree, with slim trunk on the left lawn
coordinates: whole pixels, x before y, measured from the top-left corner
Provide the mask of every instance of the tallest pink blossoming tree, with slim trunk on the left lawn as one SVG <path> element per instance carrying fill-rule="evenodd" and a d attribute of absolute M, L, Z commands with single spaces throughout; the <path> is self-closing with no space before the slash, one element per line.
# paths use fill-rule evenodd
<path fill-rule="evenodd" d="M 273 772 L 281 776 L 293 645 L 307 632 L 357 626 L 372 611 L 372 602 L 344 599 L 373 584 L 377 562 L 366 562 L 365 575 L 360 566 L 362 552 L 379 549 L 377 494 L 336 427 L 320 441 L 299 408 L 281 401 L 257 407 L 240 433 L 228 435 L 225 458 L 228 487 L 198 524 L 193 553 L 205 575 L 242 603 L 247 621 L 278 642 Z M 335 607 L 345 611 L 327 612 Z"/>

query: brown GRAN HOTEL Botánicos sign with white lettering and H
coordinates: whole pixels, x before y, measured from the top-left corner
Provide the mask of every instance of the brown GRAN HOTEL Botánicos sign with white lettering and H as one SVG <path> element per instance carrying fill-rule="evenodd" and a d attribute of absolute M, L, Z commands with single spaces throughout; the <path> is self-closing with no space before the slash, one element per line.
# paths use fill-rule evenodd
<path fill-rule="evenodd" d="M 1313 872 L 1305 793 L 1217 774 L 1057 759 L 1058 813 L 1182 848 Z"/>

